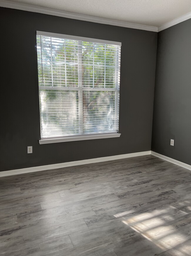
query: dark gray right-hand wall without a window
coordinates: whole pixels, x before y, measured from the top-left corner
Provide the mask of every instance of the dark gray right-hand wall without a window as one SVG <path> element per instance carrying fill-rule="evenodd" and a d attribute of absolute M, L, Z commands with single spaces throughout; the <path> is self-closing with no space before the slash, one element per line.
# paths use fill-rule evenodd
<path fill-rule="evenodd" d="M 152 150 L 191 164 L 191 19 L 158 33 Z"/>

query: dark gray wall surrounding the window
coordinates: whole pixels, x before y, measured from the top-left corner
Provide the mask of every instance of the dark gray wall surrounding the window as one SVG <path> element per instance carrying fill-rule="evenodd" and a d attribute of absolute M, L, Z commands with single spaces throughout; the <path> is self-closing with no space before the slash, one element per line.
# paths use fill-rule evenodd
<path fill-rule="evenodd" d="M 6 8 L 0 20 L 1 171 L 150 150 L 156 32 Z M 120 138 L 38 144 L 36 30 L 122 42 Z"/>

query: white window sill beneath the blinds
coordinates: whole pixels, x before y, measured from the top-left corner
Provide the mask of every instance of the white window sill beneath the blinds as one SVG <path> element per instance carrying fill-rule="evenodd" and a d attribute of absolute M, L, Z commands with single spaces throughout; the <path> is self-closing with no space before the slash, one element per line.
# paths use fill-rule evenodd
<path fill-rule="evenodd" d="M 58 143 L 66 141 L 83 141 L 83 140 L 94 140 L 94 139 L 104 139 L 104 138 L 116 138 L 120 137 L 121 133 L 105 133 L 105 134 L 96 134 L 96 135 L 83 135 L 83 136 L 71 136 L 63 138 L 51 138 L 51 139 L 41 139 L 39 144 L 49 144 L 49 143 Z"/>

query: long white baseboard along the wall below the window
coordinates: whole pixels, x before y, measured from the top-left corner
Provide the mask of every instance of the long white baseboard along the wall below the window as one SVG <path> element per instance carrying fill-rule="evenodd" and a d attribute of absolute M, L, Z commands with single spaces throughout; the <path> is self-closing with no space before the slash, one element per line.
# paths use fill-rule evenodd
<path fill-rule="evenodd" d="M 60 163 L 60 164 L 42 165 L 42 166 L 29 167 L 29 168 L 23 168 L 23 169 L 15 169 L 15 170 L 0 172 L 0 177 L 29 173 L 29 172 L 39 172 L 39 171 L 45 171 L 45 170 L 51 170 L 51 169 L 58 169 L 58 168 L 64 168 L 64 167 L 76 166 L 76 165 L 82 165 L 82 164 L 92 164 L 92 163 L 99 163 L 99 162 L 105 162 L 105 161 L 112 161 L 117 159 L 135 157 L 135 156 L 146 156 L 146 155 L 150 155 L 150 151 L 143 151 L 143 152 L 116 155 L 116 156 L 105 156 L 105 157 L 99 157 L 99 158 L 85 159 L 85 160 Z"/>

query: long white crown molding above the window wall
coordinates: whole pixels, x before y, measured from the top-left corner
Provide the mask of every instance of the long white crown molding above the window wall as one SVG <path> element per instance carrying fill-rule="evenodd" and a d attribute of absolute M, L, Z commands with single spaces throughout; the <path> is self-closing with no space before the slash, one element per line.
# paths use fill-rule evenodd
<path fill-rule="evenodd" d="M 105 18 L 90 16 L 86 14 L 78 14 L 74 12 L 65 12 L 65 11 L 60 11 L 58 9 L 50 9 L 50 8 L 35 6 L 31 4 L 20 4 L 12 1 L 1 0 L 0 6 L 6 7 L 6 8 L 12 8 L 12 9 L 19 9 L 23 11 L 38 12 L 38 13 L 49 14 L 49 15 L 54 15 L 59 17 L 65 17 L 69 19 L 78 19 L 78 20 L 108 24 L 108 25 L 119 26 L 119 27 L 129 27 L 129 28 L 158 32 L 158 27 L 154 27 L 154 26 L 124 22 L 124 21 L 119 21 L 115 19 L 105 19 Z"/>

